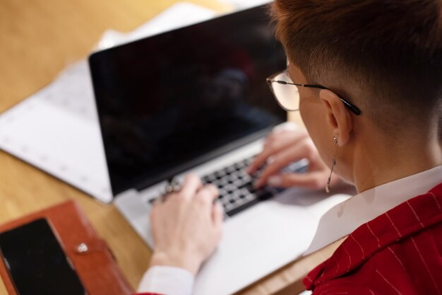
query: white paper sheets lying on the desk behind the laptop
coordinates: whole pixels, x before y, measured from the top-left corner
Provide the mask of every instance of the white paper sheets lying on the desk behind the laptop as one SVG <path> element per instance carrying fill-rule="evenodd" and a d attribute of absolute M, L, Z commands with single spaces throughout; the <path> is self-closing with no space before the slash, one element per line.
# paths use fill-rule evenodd
<path fill-rule="evenodd" d="M 182 2 L 124 34 L 108 30 L 99 49 L 215 16 Z M 88 62 L 65 69 L 49 86 L 0 115 L 0 149 L 64 180 L 101 202 L 112 202 Z"/>

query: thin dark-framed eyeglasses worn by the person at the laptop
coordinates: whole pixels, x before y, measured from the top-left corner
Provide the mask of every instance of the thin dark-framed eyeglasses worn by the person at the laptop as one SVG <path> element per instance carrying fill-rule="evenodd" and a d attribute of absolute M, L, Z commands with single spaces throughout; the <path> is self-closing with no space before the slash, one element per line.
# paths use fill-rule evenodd
<path fill-rule="evenodd" d="M 272 76 L 269 76 L 267 79 L 268 86 L 270 86 L 270 90 L 273 92 L 277 103 L 281 106 L 281 108 L 294 111 L 299 110 L 299 91 L 297 87 L 289 87 L 289 85 L 294 86 L 302 86 L 307 88 L 317 88 L 317 89 L 328 89 L 325 86 L 321 85 L 312 85 L 312 84 L 298 84 L 293 83 L 292 79 L 290 79 L 287 70 L 280 71 Z M 361 115 L 361 110 L 356 106 L 349 103 L 347 100 L 342 100 L 342 103 L 354 112 L 356 115 Z"/>

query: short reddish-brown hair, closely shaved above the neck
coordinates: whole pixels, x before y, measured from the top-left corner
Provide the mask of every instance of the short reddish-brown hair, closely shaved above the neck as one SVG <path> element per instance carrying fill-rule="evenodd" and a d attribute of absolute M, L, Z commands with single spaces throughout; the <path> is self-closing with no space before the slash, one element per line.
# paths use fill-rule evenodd
<path fill-rule="evenodd" d="M 275 0 L 270 10 L 309 83 L 347 96 L 382 127 L 441 115 L 441 0 Z"/>

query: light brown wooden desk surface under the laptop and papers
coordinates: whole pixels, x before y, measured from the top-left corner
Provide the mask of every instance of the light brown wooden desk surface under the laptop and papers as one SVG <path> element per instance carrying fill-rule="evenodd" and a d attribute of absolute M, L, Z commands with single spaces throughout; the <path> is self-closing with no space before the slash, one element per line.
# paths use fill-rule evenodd
<path fill-rule="evenodd" d="M 216 1 L 189 1 L 217 11 L 230 9 Z M 105 29 L 133 30 L 174 2 L 0 1 L 0 112 L 50 83 L 68 64 L 85 58 Z M 150 250 L 117 209 L 0 152 L 0 223 L 67 199 L 75 199 L 83 207 L 135 288 L 148 265 Z M 241 294 L 285 294 L 287 289 L 287 294 L 294 294 L 300 289 L 299 279 L 329 254 L 317 253 L 292 263 Z M 0 294 L 6 294 L 3 283 Z"/>

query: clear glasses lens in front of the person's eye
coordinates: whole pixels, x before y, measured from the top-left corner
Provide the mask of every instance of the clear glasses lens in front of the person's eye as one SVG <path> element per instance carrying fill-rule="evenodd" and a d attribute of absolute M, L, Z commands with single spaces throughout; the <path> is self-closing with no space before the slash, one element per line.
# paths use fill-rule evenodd
<path fill-rule="evenodd" d="M 286 110 L 299 110 L 299 91 L 297 86 L 277 83 L 277 81 L 292 83 L 287 72 L 278 74 L 272 80 L 273 94 L 275 94 L 277 102 L 280 103 L 282 108 Z"/>

